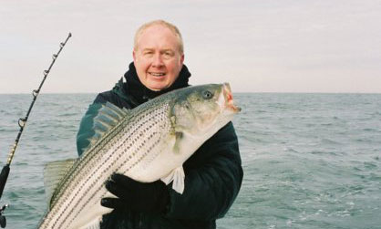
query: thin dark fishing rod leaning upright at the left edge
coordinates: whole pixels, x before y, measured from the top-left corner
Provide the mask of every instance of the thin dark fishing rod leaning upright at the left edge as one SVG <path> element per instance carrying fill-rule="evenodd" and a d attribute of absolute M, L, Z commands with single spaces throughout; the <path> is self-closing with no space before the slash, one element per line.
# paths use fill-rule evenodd
<path fill-rule="evenodd" d="M 26 112 L 26 117 L 25 118 L 20 118 L 18 120 L 18 126 L 20 127 L 20 130 L 18 131 L 17 137 L 15 138 L 15 144 L 13 145 L 11 151 L 9 151 L 8 161 L 6 161 L 6 164 L 5 164 L 5 166 L 3 167 L 3 170 L 0 173 L 0 199 L 1 199 L 1 196 L 3 195 L 3 191 L 4 191 L 6 180 L 8 179 L 11 162 L 12 162 L 14 156 L 15 156 L 15 149 L 17 148 L 18 141 L 20 141 L 21 134 L 23 133 L 23 130 L 24 130 L 25 126 L 26 126 L 26 121 L 29 118 L 30 111 L 32 110 L 33 105 L 35 105 L 35 101 L 37 99 L 37 96 L 40 93 L 40 90 L 41 90 L 41 88 L 42 88 L 42 86 L 43 86 L 43 84 L 45 82 L 45 79 L 46 79 L 47 75 L 50 72 L 50 69 L 53 67 L 53 65 L 56 62 L 56 59 L 57 59 L 59 53 L 61 53 L 62 49 L 67 44 L 67 40 L 70 37 L 71 37 L 71 33 L 69 33 L 67 35 L 67 39 L 65 40 L 65 42 L 61 42 L 59 44 L 59 50 L 58 50 L 57 54 L 53 54 L 53 57 L 52 57 L 53 60 L 50 63 L 49 68 L 44 70 L 44 78 L 42 79 L 42 81 L 40 83 L 40 86 L 37 89 L 34 89 L 33 92 L 32 92 L 33 100 L 32 100 L 32 103 L 29 106 L 29 109 Z M 5 204 L 5 205 L 3 205 L 3 207 L 0 208 L 0 226 L 2 228 L 5 228 L 5 226 L 6 226 L 6 219 L 5 219 L 5 216 L 3 215 L 6 207 L 8 207 L 8 204 Z"/>

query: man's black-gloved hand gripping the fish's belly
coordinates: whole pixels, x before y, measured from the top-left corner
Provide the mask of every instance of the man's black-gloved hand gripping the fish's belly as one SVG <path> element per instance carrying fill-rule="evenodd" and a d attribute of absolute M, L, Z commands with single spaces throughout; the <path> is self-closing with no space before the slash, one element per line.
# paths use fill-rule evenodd
<path fill-rule="evenodd" d="M 108 192 L 118 198 L 103 198 L 101 205 L 108 208 L 127 208 L 131 211 L 163 213 L 170 200 L 170 193 L 164 182 L 137 182 L 115 173 L 106 182 Z"/>

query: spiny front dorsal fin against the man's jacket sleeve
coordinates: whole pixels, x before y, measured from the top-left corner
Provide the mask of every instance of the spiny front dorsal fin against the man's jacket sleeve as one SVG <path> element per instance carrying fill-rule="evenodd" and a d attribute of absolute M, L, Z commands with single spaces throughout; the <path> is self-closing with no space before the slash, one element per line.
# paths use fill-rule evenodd
<path fill-rule="evenodd" d="M 93 130 L 95 131 L 95 134 L 88 139 L 90 143 L 88 148 L 84 151 L 87 151 L 94 144 L 96 144 L 98 140 L 101 139 L 106 132 L 108 132 L 108 130 L 111 130 L 113 127 L 118 125 L 120 120 L 125 118 L 128 114 L 128 109 L 119 109 L 110 102 L 102 105 L 102 108 L 98 111 L 98 115 L 94 118 Z"/>

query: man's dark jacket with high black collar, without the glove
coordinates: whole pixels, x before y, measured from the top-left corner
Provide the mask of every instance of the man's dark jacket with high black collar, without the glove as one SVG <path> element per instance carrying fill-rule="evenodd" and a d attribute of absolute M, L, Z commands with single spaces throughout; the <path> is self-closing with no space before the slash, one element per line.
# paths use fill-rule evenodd
<path fill-rule="evenodd" d="M 133 109 L 167 91 L 189 86 L 190 72 L 183 66 L 179 78 L 170 88 L 161 91 L 151 91 L 144 87 L 133 63 L 129 65 L 125 78 L 125 83 L 121 79 L 112 90 L 98 94 L 81 120 L 77 134 L 79 155 L 94 134 L 92 124 L 100 104 L 109 101 L 119 108 Z M 101 228 L 216 228 L 216 219 L 228 212 L 242 183 L 241 157 L 232 122 L 206 141 L 185 161 L 183 167 L 184 193 L 176 193 L 169 188 L 170 200 L 165 213 L 138 213 L 115 209 L 103 216 Z"/>

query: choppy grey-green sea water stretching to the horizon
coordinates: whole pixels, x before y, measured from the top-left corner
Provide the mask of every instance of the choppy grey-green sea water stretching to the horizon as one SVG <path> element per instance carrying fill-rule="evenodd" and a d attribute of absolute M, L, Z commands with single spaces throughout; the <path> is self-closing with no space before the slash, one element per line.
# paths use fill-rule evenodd
<path fill-rule="evenodd" d="M 1 203 L 7 228 L 36 228 L 46 210 L 43 166 L 77 157 L 93 94 L 41 94 Z M 0 95 L 0 164 L 31 95 Z M 234 94 L 244 178 L 218 228 L 381 228 L 380 94 Z"/>

